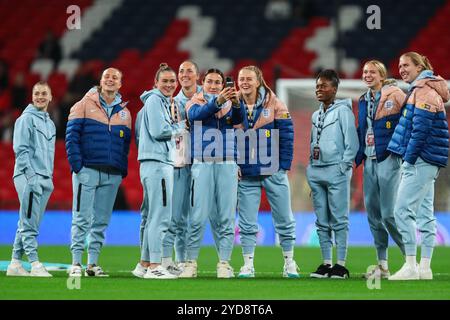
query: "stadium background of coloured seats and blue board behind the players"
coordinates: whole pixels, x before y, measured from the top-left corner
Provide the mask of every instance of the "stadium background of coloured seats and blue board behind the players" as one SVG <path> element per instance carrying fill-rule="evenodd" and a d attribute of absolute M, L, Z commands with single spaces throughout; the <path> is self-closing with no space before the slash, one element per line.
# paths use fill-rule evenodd
<path fill-rule="evenodd" d="M 98 83 L 105 67 L 114 66 L 123 71 L 121 93 L 129 101 L 134 119 L 141 107 L 139 95 L 152 87 L 159 63 L 167 62 L 177 69 L 183 60 L 192 59 L 203 71 L 217 67 L 235 78 L 240 67 L 258 65 L 271 88 L 288 104 L 295 126 L 289 177 L 292 206 L 297 213 L 297 244 L 317 245 L 305 168 L 310 116 L 318 103 L 314 81 L 299 80 L 313 79 L 319 70 L 334 68 L 344 79 L 339 96 L 351 97 L 356 107 L 365 90 L 359 81 L 363 63 L 379 59 L 391 76 L 399 78 L 398 57 L 411 50 L 428 56 L 435 72 L 450 79 L 450 33 L 446 32 L 450 1 L 290 0 L 288 17 L 275 19 L 266 13 L 269 2 L 0 0 L 0 244 L 13 242 L 17 223 L 12 126 L 31 100 L 35 82 L 47 80 L 53 90 L 50 113 L 59 138 L 55 191 L 39 241 L 66 244 L 70 239 L 72 184 L 64 132 L 70 107 Z M 51 50 L 40 50 L 49 30 L 60 46 L 60 58 L 48 54 Z M 119 192 L 106 244 L 138 244 L 142 188 L 136 158 L 132 143 L 129 175 Z M 438 243 L 447 245 L 449 180 L 449 169 L 441 170 L 435 195 Z M 259 243 L 271 245 L 277 239 L 265 197 L 260 209 Z M 354 171 L 352 179 L 351 210 L 350 244 L 370 245 L 361 168 Z M 205 244 L 211 243 L 208 229 Z"/>

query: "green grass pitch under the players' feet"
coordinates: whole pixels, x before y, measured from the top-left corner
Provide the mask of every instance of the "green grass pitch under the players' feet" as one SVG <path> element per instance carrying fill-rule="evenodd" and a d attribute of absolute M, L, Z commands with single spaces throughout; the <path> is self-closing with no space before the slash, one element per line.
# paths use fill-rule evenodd
<path fill-rule="evenodd" d="M 10 246 L 0 246 L 0 260 L 8 260 Z M 390 248 L 390 270 L 402 263 L 400 251 Z M 41 246 L 41 261 L 70 263 L 68 246 Z M 283 259 L 279 247 L 257 247 L 256 278 L 217 279 L 217 254 L 212 247 L 200 251 L 199 276 L 196 279 L 144 280 L 131 275 L 139 257 L 138 247 L 106 246 L 100 265 L 109 278 L 81 278 L 80 289 L 67 288 L 67 274 L 52 272 L 53 278 L 6 277 L 0 272 L 0 299 L 157 299 L 157 300 L 377 300 L 377 299 L 450 299 L 450 248 L 437 247 L 434 252 L 432 281 L 382 280 L 379 289 L 368 289 L 362 274 L 375 262 L 375 250 L 351 247 L 347 267 L 350 279 L 311 279 L 309 273 L 321 262 L 319 248 L 296 247 L 295 259 L 300 279 L 281 276 Z M 241 248 L 235 247 L 232 266 L 237 272 L 242 264 Z"/>

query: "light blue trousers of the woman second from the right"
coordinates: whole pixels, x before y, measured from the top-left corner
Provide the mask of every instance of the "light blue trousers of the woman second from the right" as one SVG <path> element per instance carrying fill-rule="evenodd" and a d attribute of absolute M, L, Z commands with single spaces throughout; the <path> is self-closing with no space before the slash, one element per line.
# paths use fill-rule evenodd
<path fill-rule="evenodd" d="M 364 161 L 364 205 L 367 211 L 378 260 L 387 260 L 389 235 L 405 253 L 402 235 L 394 218 L 394 206 L 400 184 L 401 159 L 390 155 L 385 160 Z"/>

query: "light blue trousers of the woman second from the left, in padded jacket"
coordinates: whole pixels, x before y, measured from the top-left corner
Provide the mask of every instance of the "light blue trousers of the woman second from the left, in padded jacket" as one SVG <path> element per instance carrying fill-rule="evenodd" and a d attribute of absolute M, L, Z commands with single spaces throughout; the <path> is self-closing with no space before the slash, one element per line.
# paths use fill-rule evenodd
<path fill-rule="evenodd" d="M 105 231 L 111 220 L 120 174 L 83 167 L 72 174 L 72 263 L 82 264 L 87 239 L 88 264 L 98 264 L 105 242 Z"/>

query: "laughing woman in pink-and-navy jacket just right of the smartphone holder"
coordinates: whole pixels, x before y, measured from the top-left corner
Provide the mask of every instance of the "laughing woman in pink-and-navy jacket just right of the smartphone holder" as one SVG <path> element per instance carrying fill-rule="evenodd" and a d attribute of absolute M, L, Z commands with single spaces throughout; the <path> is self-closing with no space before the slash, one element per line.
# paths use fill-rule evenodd
<path fill-rule="evenodd" d="M 283 277 L 298 278 L 298 266 L 294 261 L 295 219 L 287 176 L 294 150 L 292 119 L 287 106 L 267 86 L 258 67 L 243 67 L 239 71 L 238 85 L 240 105 L 245 114 L 242 128 L 249 135 L 248 143 L 247 138 L 242 139 L 242 150 L 239 147 L 242 177 L 238 188 L 238 213 L 244 265 L 238 277 L 255 276 L 258 211 L 264 188 L 283 250 Z"/>

